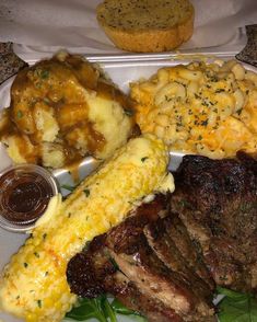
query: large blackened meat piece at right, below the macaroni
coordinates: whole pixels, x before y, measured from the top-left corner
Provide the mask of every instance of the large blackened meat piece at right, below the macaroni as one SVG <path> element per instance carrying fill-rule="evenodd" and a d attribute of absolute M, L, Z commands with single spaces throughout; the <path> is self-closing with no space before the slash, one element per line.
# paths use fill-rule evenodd
<path fill-rule="evenodd" d="M 215 283 L 257 288 L 257 162 L 186 156 L 175 175 L 172 210 L 179 214 Z"/>

